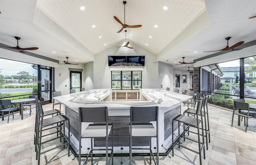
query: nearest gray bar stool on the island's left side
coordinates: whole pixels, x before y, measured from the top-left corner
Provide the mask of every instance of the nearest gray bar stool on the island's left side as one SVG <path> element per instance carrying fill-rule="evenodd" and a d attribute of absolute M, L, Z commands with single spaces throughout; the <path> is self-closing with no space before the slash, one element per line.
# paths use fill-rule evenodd
<path fill-rule="evenodd" d="M 53 149 L 56 149 L 58 147 L 62 147 L 62 146 L 65 147 L 65 145 L 68 145 L 68 156 L 70 156 L 70 122 L 69 122 L 68 117 L 66 117 L 65 115 L 57 115 L 54 117 L 44 119 L 44 111 L 42 109 L 41 102 L 38 103 L 38 109 L 39 109 L 39 113 L 38 113 L 39 119 L 38 119 L 37 138 L 36 138 L 36 160 L 38 160 L 38 165 L 40 165 L 40 155 L 41 154 L 46 153 L 48 151 L 52 151 Z M 66 122 L 68 122 L 68 124 L 67 124 L 68 125 L 68 137 L 66 137 L 66 135 L 65 135 Z M 55 125 L 55 124 L 57 124 L 55 127 L 48 128 L 48 126 Z M 62 133 L 62 125 L 63 125 L 63 133 Z M 53 137 L 52 139 L 47 138 L 48 140 L 42 141 L 42 137 L 54 134 L 54 133 L 48 133 L 48 134 L 42 135 L 42 131 L 46 130 L 46 129 L 44 129 L 45 127 L 47 127 L 46 128 L 47 130 L 57 128 L 57 131 L 54 133 L 57 133 L 57 135 L 58 135 L 58 133 L 60 133 L 60 136 Z M 58 138 L 60 138 L 60 141 L 61 141 L 61 138 L 63 138 L 63 144 L 57 145 L 56 147 L 53 147 L 48 150 L 41 151 L 42 144 L 50 142 L 50 141 L 58 139 Z"/>

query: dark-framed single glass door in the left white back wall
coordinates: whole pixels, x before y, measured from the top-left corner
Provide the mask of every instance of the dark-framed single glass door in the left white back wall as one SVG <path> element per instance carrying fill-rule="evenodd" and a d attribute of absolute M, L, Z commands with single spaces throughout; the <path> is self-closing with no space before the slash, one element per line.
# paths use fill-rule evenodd
<path fill-rule="evenodd" d="M 80 91 L 82 87 L 82 72 L 70 71 L 70 89 Z"/>

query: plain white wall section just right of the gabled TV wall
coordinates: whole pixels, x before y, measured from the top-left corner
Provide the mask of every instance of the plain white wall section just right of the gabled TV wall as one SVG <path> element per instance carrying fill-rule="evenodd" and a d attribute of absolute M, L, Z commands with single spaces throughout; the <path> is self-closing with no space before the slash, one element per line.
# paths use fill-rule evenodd
<path fill-rule="evenodd" d="M 170 87 L 170 91 L 173 91 L 175 88 L 175 86 L 173 86 L 174 80 L 172 65 L 158 62 L 158 88 L 166 90 L 166 87 Z"/>

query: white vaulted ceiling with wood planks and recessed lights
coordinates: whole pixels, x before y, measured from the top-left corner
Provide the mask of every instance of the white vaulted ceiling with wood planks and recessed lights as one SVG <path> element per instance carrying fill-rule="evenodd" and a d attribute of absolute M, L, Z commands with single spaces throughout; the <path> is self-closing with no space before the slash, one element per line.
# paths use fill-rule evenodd
<path fill-rule="evenodd" d="M 156 54 L 158 61 L 184 70 L 212 54 L 204 51 L 255 40 L 255 0 L 0 0 L 0 46 L 38 47 L 35 54 L 63 61 L 86 63 L 112 46 L 122 46 L 128 25 L 130 46 L 136 44 Z M 80 7 L 84 6 L 84 10 Z M 166 6 L 168 9 L 164 10 Z M 94 28 L 92 26 L 95 25 Z M 158 27 L 155 28 L 154 26 Z M 1 48 L 1 47 L 0 47 Z M 53 53 L 56 52 L 56 53 Z M 197 53 L 194 53 L 197 52 Z M 186 68 L 187 69 L 187 68 Z"/>

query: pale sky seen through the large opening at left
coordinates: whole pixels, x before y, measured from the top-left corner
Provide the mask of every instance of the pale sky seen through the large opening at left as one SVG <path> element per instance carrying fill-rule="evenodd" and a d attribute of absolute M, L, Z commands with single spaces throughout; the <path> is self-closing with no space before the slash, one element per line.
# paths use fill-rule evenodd
<path fill-rule="evenodd" d="M 4 76 L 16 75 L 20 71 L 29 72 L 30 75 L 37 75 L 37 70 L 31 67 L 32 64 L 17 62 L 13 60 L 6 60 L 0 58 L 0 74 Z"/>

